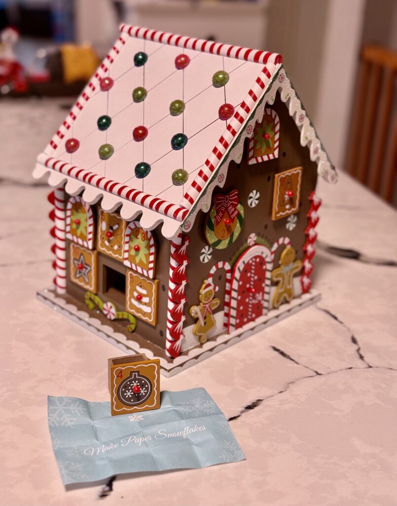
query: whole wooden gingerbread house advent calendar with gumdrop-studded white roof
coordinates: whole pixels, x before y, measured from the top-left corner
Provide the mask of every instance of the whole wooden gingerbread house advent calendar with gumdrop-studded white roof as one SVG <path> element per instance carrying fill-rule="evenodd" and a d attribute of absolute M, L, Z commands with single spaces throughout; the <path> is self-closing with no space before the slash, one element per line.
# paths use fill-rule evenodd
<path fill-rule="evenodd" d="M 122 25 L 44 174 L 38 298 L 166 375 L 318 297 L 316 181 L 336 173 L 278 54 Z"/>

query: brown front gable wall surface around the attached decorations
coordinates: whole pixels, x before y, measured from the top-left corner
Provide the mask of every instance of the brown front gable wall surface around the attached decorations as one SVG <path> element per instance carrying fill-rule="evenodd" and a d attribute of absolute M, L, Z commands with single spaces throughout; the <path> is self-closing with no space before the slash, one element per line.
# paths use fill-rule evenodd
<path fill-rule="evenodd" d="M 247 237 L 252 232 L 267 240 L 270 245 L 279 237 L 289 237 L 291 245 L 296 249 L 296 258 L 303 259 L 302 248 L 306 241 L 305 228 L 308 223 L 306 214 L 310 207 L 309 195 L 316 187 L 317 163 L 310 160 L 309 149 L 301 146 L 300 131 L 296 128 L 293 119 L 289 116 L 287 107 L 281 102 L 278 94 L 272 108 L 275 109 L 280 119 L 278 158 L 248 165 L 246 161 L 247 145 L 245 144 L 241 163 L 230 162 L 225 185 L 222 189 L 219 189 L 219 193 L 228 193 L 235 188 L 238 189 L 239 200 L 244 207 L 244 222 L 238 238 L 226 249 L 213 249 L 211 260 L 203 264 L 200 261 L 200 251 L 208 244 L 204 234 L 205 213 L 202 211 L 198 213 L 192 230 L 188 234 L 191 243 L 188 250 L 190 264 L 187 269 L 189 283 L 186 286 L 188 306 L 185 311 L 187 317 L 185 325 L 190 325 L 196 321 L 188 314 L 188 309 L 193 304 L 198 303 L 198 291 L 210 269 L 219 261 L 229 262 L 246 243 Z M 289 231 L 285 227 L 286 218 L 276 221 L 271 218 L 274 175 L 297 166 L 303 167 L 301 207 L 299 212 L 296 213 L 297 225 L 294 230 Z M 253 208 L 247 204 L 248 195 L 252 190 L 258 190 L 260 193 L 259 203 Z M 217 189 L 214 193 L 217 193 Z M 278 266 L 281 251 L 281 247 L 276 251 L 274 266 Z M 216 297 L 221 301 L 220 306 L 215 311 L 217 312 L 223 310 L 224 307 L 224 269 L 219 269 L 215 273 L 214 282 L 219 284 Z"/>

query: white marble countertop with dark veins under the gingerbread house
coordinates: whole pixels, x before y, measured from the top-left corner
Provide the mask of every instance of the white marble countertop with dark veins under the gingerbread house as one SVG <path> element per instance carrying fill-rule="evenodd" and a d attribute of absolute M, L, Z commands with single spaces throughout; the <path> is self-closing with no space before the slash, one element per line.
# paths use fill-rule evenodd
<path fill-rule="evenodd" d="M 68 100 L 3 101 L 0 300 L 3 366 L 0 503 L 12 506 L 197 504 L 395 506 L 397 267 L 318 249 L 322 300 L 194 367 L 163 390 L 201 386 L 246 460 L 118 476 L 65 490 L 47 426 L 47 395 L 109 399 L 107 359 L 120 351 L 35 299 L 53 277 L 46 186 L 35 155 Z M 343 173 L 320 181 L 322 242 L 397 260 L 397 214 Z M 111 490 L 113 489 L 113 490 Z"/>

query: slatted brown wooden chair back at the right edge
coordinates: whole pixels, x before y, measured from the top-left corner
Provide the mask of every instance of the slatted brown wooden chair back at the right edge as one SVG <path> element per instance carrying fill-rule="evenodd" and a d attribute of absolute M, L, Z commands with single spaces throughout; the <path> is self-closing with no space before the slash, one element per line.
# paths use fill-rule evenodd
<path fill-rule="evenodd" d="M 390 202 L 397 175 L 397 53 L 364 46 L 355 93 L 346 171 Z"/>

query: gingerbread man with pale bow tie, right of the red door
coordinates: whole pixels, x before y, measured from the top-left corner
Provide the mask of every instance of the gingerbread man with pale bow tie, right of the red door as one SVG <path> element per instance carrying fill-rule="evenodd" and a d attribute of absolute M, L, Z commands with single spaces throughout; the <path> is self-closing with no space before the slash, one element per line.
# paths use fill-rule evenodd
<path fill-rule="evenodd" d="M 287 246 L 280 256 L 280 267 L 272 271 L 272 280 L 278 281 L 273 296 L 273 308 L 293 299 L 293 275 L 302 269 L 302 261 L 295 260 L 295 250 Z"/>

